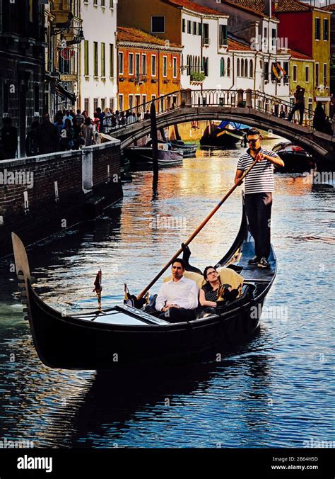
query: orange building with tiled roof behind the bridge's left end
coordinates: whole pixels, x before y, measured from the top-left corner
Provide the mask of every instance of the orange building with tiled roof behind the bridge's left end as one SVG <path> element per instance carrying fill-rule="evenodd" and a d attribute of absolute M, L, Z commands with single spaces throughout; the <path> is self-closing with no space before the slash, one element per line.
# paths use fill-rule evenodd
<path fill-rule="evenodd" d="M 117 51 L 119 111 L 180 90 L 181 45 L 118 27 Z"/>

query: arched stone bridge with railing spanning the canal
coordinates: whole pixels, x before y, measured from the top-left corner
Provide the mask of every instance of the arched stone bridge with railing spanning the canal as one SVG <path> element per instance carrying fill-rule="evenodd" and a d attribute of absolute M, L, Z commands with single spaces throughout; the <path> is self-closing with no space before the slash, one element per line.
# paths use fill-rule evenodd
<path fill-rule="evenodd" d="M 151 102 L 147 102 L 129 110 L 130 115 L 124 112 L 130 122 L 108 131 L 110 135 L 121 140 L 122 149 L 150 134 L 150 107 Z M 156 98 L 155 107 L 158 129 L 194 120 L 246 123 L 255 128 L 271 130 L 275 135 L 300 145 L 310 152 L 317 162 L 335 163 L 335 135 L 313 130 L 313 112 L 307 109 L 303 125 L 279 118 L 278 113 L 282 107 L 286 113 L 291 108 L 290 103 L 281 101 L 280 98 L 252 90 L 182 90 Z M 334 123 L 332 127 L 334 128 Z"/>

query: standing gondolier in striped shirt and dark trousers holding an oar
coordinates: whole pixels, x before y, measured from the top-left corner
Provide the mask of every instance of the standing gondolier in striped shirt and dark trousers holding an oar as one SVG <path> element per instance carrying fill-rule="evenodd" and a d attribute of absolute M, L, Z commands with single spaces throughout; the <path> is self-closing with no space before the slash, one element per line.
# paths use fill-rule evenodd
<path fill-rule="evenodd" d="M 243 172 L 257 159 L 245 178 L 245 210 L 249 230 L 254 237 L 255 256 L 249 264 L 269 267 L 271 241 L 271 206 L 274 191 L 274 167 L 283 167 L 283 160 L 274 152 L 261 148 L 261 134 L 256 128 L 247 132 L 248 150 L 237 162 L 235 184 L 241 184 Z"/>

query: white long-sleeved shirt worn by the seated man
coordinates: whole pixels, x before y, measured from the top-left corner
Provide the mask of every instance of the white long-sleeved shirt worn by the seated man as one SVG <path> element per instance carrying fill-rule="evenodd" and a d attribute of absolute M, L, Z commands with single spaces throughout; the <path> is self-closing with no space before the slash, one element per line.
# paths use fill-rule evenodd
<path fill-rule="evenodd" d="M 155 308 L 160 311 L 165 304 L 174 304 L 187 310 L 194 310 L 198 305 L 199 289 L 192 279 L 180 278 L 179 281 L 167 281 L 158 292 Z"/>

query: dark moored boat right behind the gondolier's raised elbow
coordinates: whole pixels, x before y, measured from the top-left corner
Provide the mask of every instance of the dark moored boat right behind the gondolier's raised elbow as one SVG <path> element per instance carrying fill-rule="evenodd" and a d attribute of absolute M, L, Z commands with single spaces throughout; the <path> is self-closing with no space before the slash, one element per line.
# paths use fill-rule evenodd
<path fill-rule="evenodd" d="M 284 167 L 276 167 L 277 173 L 303 173 L 315 168 L 312 155 L 293 142 L 280 142 L 272 148 L 285 163 Z"/>

